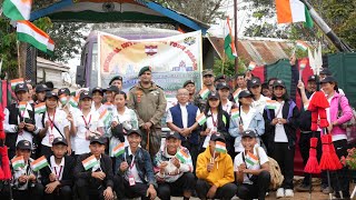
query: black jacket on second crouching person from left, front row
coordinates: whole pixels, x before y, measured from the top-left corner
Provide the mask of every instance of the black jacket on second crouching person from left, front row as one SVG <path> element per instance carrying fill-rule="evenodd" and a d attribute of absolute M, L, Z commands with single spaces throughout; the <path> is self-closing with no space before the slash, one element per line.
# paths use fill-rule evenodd
<path fill-rule="evenodd" d="M 51 166 L 50 157 L 47 158 L 47 161 L 48 161 L 49 166 Z M 63 187 L 63 186 L 71 187 L 73 184 L 75 164 L 76 164 L 76 160 L 72 157 L 65 156 L 65 168 L 62 169 L 63 170 L 62 180 L 59 181 L 61 187 Z M 42 182 L 42 184 L 46 186 L 46 184 L 50 183 L 49 174 L 52 173 L 50 171 L 50 169 L 49 168 L 42 168 L 40 170 L 40 173 L 41 173 L 41 182 Z"/>

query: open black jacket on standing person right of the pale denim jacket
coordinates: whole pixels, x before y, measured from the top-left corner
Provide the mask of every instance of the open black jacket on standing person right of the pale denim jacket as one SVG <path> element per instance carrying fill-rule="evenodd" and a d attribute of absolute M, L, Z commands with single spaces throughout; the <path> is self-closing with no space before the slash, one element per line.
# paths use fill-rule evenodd
<path fill-rule="evenodd" d="M 289 106 L 291 104 L 291 110 L 289 114 Z M 289 114 L 289 118 L 288 118 Z M 281 116 L 284 119 L 287 119 L 287 123 L 284 124 L 287 138 L 288 138 L 288 146 L 294 147 L 296 144 L 297 136 L 296 131 L 298 128 L 298 119 L 299 119 L 299 110 L 298 107 L 295 104 L 294 101 L 289 100 L 286 101 L 281 109 Z M 264 111 L 264 119 L 265 119 L 265 134 L 263 136 L 263 140 L 267 146 L 267 150 L 270 153 L 275 142 L 275 134 L 276 134 L 276 126 L 271 124 L 271 120 L 275 119 L 275 110 L 274 109 L 265 109 Z"/>

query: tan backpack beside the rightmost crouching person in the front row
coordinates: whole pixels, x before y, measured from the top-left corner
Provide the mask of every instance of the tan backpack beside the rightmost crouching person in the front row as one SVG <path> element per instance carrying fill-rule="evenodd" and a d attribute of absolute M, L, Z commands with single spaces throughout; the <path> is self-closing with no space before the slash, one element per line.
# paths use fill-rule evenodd
<path fill-rule="evenodd" d="M 256 147 L 255 150 L 257 152 L 257 158 L 259 160 L 258 148 Z M 281 186 L 285 177 L 281 174 L 279 164 L 275 159 L 268 157 L 268 164 L 269 164 L 269 174 L 270 174 L 269 189 L 277 190 Z"/>

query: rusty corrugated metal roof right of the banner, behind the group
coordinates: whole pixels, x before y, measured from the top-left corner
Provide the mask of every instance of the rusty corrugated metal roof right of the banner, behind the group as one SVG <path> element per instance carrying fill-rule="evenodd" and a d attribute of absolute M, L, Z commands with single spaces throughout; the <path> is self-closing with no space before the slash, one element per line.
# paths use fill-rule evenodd
<path fill-rule="evenodd" d="M 224 54 L 224 39 L 209 37 L 209 40 L 216 51 Z M 263 66 L 289 58 L 288 53 L 294 47 L 290 40 L 243 37 L 238 39 L 237 54 L 248 62 L 255 61 L 258 66 Z"/>

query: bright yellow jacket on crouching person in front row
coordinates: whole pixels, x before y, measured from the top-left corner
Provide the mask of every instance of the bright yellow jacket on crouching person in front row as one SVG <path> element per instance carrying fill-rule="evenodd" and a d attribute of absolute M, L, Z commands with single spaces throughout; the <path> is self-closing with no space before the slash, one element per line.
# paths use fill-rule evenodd
<path fill-rule="evenodd" d="M 208 172 L 207 167 L 212 159 L 210 149 L 207 149 L 198 156 L 196 176 L 220 188 L 226 183 L 234 182 L 234 164 L 231 157 L 227 153 L 220 153 L 214 161 L 212 171 Z"/>

